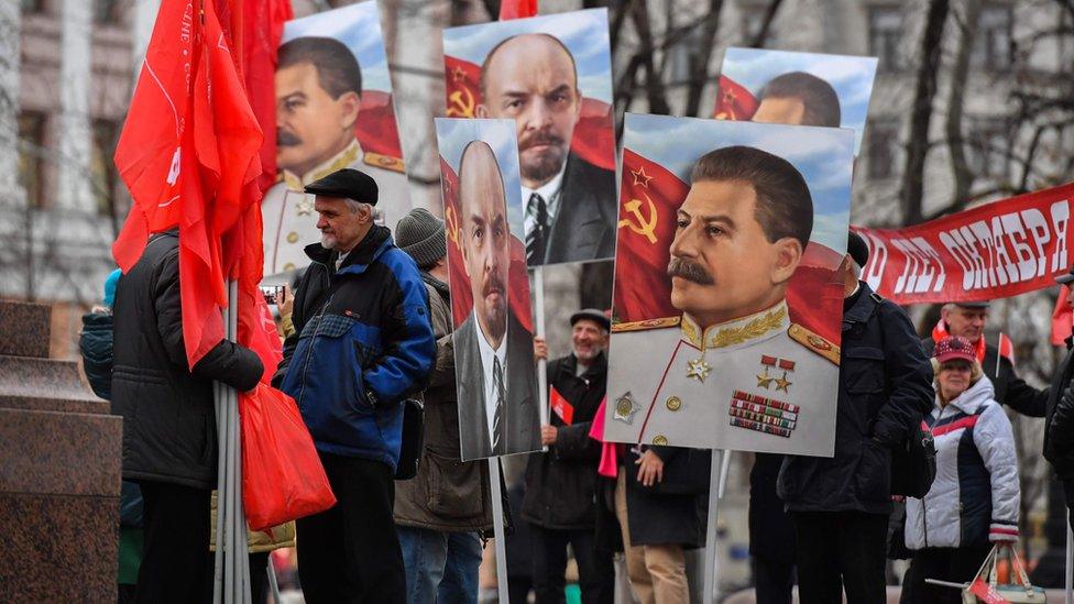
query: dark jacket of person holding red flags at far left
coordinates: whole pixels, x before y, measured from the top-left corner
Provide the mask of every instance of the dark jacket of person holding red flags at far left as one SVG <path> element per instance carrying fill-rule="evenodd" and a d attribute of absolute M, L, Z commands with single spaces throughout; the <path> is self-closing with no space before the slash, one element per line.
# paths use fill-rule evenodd
<path fill-rule="evenodd" d="M 264 369 L 257 355 L 221 340 L 187 369 L 176 231 L 150 239 L 119 279 L 112 413 L 123 416 L 123 477 L 210 488 L 217 482 L 212 382 L 245 392 Z"/>

